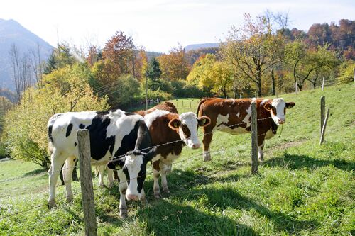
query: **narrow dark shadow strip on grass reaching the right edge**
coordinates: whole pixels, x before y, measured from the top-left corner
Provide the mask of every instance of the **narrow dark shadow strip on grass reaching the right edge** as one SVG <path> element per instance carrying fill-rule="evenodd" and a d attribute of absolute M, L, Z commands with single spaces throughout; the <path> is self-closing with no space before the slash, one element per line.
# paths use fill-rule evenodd
<path fill-rule="evenodd" d="M 285 153 L 280 157 L 274 157 L 263 162 L 266 167 L 286 167 L 288 169 L 317 169 L 332 165 L 344 171 L 351 171 L 355 169 L 355 162 L 349 162 L 344 159 L 315 159 L 306 155 L 288 154 Z"/>

